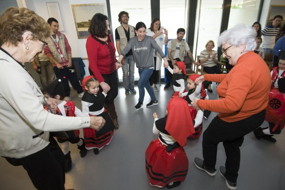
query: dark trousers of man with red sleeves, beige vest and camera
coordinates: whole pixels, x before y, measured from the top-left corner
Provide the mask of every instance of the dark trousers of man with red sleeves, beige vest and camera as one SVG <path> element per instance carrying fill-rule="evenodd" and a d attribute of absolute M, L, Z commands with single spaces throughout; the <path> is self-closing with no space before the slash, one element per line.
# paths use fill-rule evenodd
<path fill-rule="evenodd" d="M 70 81 L 72 87 L 77 91 L 78 94 L 83 92 L 82 86 L 79 83 L 79 80 L 77 78 L 76 73 L 70 73 L 70 69 L 74 69 L 74 66 L 68 68 L 67 66 L 64 66 L 63 69 L 58 69 L 56 66 L 54 66 L 54 73 L 56 77 L 61 77 L 62 78 L 62 84 L 64 87 L 64 96 L 69 96 L 70 95 L 70 87 L 68 80 Z"/>

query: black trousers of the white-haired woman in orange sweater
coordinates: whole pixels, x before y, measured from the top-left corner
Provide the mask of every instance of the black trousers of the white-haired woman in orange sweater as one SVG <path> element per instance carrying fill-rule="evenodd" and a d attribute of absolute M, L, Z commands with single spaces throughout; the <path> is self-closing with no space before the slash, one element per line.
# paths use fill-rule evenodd
<path fill-rule="evenodd" d="M 217 145 L 223 142 L 227 156 L 225 177 L 235 183 L 237 181 L 243 137 L 258 128 L 265 119 L 265 110 L 236 122 L 225 122 L 215 117 L 203 133 L 204 166 L 214 170 L 217 160 Z"/>

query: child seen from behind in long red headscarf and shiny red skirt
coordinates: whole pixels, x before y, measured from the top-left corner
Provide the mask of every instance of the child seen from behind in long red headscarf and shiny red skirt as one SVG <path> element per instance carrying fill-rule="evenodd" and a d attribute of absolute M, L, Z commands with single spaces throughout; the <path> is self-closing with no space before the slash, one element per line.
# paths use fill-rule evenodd
<path fill-rule="evenodd" d="M 188 172 L 188 158 L 183 146 L 186 139 L 195 132 L 190 111 L 185 100 L 170 99 L 166 116 L 158 119 L 153 114 L 152 132 L 159 138 L 150 142 L 145 152 L 146 174 L 150 185 L 171 189 L 185 180 Z"/>

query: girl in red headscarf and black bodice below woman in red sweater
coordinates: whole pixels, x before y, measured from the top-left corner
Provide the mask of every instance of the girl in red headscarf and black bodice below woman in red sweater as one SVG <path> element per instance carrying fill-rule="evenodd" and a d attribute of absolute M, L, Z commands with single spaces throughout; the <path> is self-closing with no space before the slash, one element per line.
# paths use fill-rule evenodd
<path fill-rule="evenodd" d="M 82 97 L 82 113 L 90 116 L 101 116 L 105 119 L 106 123 L 99 131 L 91 128 L 84 128 L 84 141 L 86 149 L 93 149 L 94 154 L 99 154 L 105 145 L 110 144 L 115 125 L 104 108 L 106 93 L 99 91 L 99 82 L 93 76 L 89 75 L 82 80 L 82 88 L 86 91 Z"/>

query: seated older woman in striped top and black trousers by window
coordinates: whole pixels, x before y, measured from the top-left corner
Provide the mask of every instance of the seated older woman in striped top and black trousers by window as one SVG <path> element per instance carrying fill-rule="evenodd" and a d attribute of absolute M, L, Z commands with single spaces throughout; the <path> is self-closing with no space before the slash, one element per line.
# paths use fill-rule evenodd
<path fill-rule="evenodd" d="M 208 74 L 221 74 L 220 68 L 217 66 L 218 63 L 218 53 L 212 50 L 215 47 L 213 40 L 209 40 L 205 46 L 205 50 L 201 51 L 199 60 L 200 64 L 204 65 L 204 71 Z M 211 88 L 212 81 L 205 81 L 204 87 L 208 89 L 208 92 L 213 92 Z"/>

